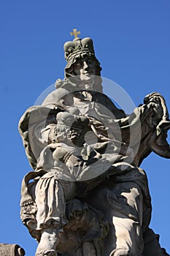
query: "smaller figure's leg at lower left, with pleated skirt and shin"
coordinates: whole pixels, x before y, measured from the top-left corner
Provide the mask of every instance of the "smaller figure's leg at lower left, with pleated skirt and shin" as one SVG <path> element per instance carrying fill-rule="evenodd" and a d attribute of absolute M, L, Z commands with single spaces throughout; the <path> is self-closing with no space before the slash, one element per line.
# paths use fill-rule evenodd
<path fill-rule="evenodd" d="M 36 256 L 55 256 L 59 235 L 63 232 L 66 220 L 66 190 L 74 192 L 69 182 L 43 176 L 35 189 L 36 229 L 41 232 L 41 239 L 36 249 Z M 73 191 L 72 191 L 73 190 Z"/>

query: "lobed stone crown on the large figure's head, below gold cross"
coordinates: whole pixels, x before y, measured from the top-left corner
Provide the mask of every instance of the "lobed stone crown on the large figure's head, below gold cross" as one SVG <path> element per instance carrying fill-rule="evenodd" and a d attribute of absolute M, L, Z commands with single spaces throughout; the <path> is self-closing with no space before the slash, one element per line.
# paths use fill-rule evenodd
<path fill-rule="evenodd" d="M 66 42 L 63 46 L 65 52 L 66 61 L 74 63 L 74 59 L 77 59 L 81 56 L 82 53 L 87 54 L 88 56 L 94 56 L 93 49 L 93 40 L 90 37 L 85 37 L 80 39 L 76 37 L 73 41 Z"/>

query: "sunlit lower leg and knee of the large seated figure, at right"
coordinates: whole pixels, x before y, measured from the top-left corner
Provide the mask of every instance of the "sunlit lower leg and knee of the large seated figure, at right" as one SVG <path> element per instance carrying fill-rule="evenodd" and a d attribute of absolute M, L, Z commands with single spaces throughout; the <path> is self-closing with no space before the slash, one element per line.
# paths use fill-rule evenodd
<path fill-rule="evenodd" d="M 112 203 L 112 224 L 115 228 L 115 249 L 110 256 L 142 256 L 143 196 L 134 182 L 115 184 L 108 195 Z"/>

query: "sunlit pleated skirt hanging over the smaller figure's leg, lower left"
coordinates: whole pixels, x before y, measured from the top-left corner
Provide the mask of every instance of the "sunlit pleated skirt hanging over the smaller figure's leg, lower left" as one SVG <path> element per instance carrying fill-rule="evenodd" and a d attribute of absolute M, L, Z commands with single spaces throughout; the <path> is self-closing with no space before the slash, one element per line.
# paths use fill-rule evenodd
<path fill-rule="evenodd" d="M 42 176 L 36 184 L 36 222 L 39 230 L 44 230 L 52 222 L 55 226 L 58 224 L 58 228 L 66 225 L 66 200 L 61 183 L 53 176 Z"/>

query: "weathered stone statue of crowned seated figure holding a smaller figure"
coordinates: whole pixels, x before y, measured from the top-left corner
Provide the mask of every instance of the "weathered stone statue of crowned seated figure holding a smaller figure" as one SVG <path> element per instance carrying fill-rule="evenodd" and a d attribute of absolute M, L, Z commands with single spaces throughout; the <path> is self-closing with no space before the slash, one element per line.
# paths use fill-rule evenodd
<path fill-rule="evenodd" d="M 64 45 L 64 80 L 20 118 L 34 169 L 23 178 L 20 216 L 39 243 L 36 256 L 168 255 L 149 227 L 139 167 L 151 151 L 170 158 L 165 99 L 148 94 L 126 115 L 102 93 L 92 39 L 74 34 Z"/>

